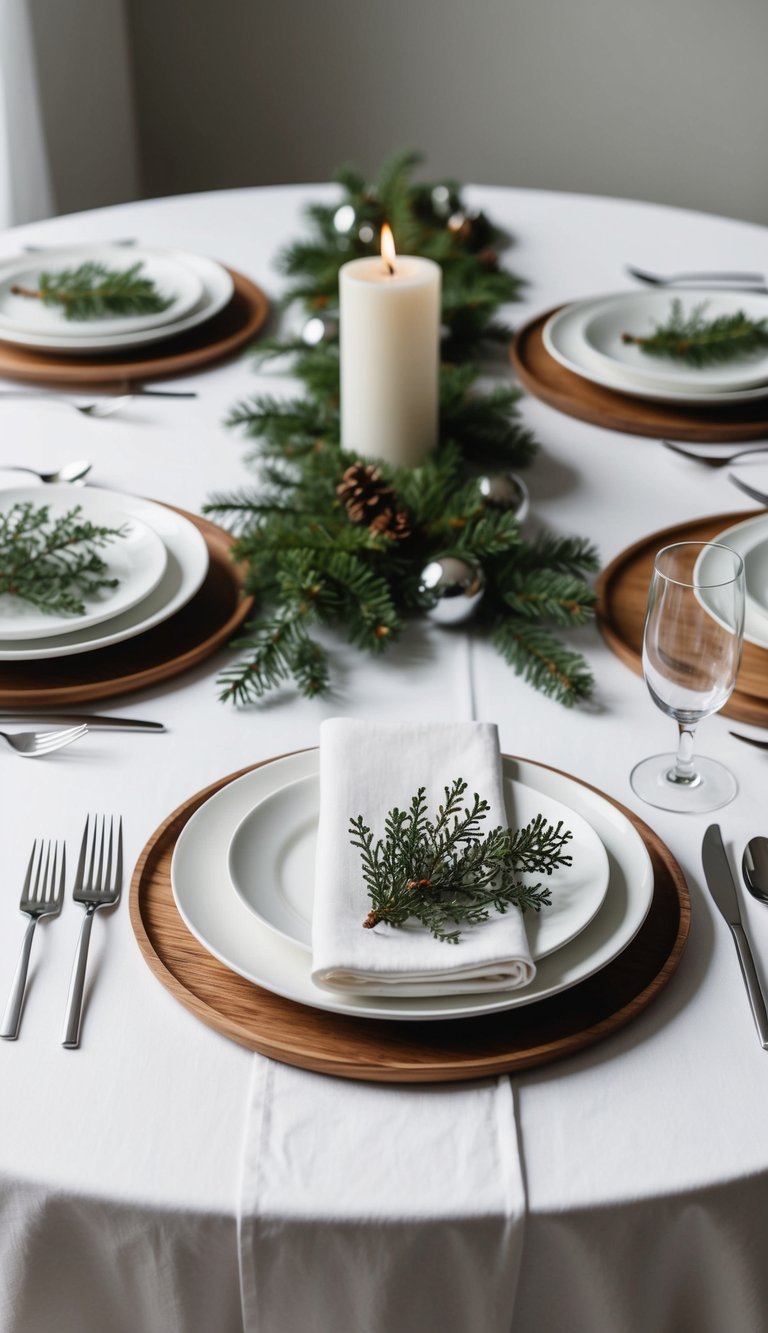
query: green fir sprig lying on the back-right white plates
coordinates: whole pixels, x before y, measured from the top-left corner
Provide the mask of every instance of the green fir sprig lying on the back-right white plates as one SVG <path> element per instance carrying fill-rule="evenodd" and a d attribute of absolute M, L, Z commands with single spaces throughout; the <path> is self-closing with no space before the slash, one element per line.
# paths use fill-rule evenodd
<path fill-rule="evenodd" d="M 707 367 L 749 356 L 768 347 L 768 320 L 751 320 L 744 311 L 705 317 L 707 301 L 685 313 L 683 301 L 672 301 L 667 324 L 653 333 L 623 333 L 621 341 L 639 347 L 647 356 L 667 356 L 687 365 Z"/>

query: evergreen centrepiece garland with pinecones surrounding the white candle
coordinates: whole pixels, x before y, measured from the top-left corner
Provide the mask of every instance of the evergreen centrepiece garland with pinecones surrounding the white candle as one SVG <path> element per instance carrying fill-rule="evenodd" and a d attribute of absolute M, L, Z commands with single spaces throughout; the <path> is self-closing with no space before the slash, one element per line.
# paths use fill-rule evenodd
<path fill-rule="evenodd" d="M 481 567 L 476 623 L 519 674 L 567 705 L 592 688 L 583 657 L 551 627 L 591 617 L 584 575 L 597 567 L 593 547 L 547 533 L 529 540 L 515 513 L 483 493 L 484 476 L 523 467 L 536 451 L 519 419 L 519 391 L 477 387 L 477 359 L 509 337 L 497 311 L 520 288 L 499 261 L 508 237 L 465 208 L 455 183 L 415 184 L 416 161 L 409 152 L 393 156 L 373 187 L 352 169 L 339 172 L 343 199 L 313 204 L 311 236 L 280 256 L 287 304 L 301 303 L 315 323 L 301 337 L 256 349 L 260 361 L 288 353 L 304 392 L 257 395 L 233 408 L 228 424 L 257 441 L 249 461 L 259 484 L 205 507 L 236 533 L 233 556 L 247 565 L 259 609 L 235 643 L 243 659 L 220 677 L 224 700 L 251 702 L 291 677 L 303 693 L 323 693 L 328 660 L 312 627 L 340 628 L 357 648 L 381 652 L 407 619 L 433 609 L 421 572 L 445 555 Z M 385 220 L 400 253 L 443 269 L 440 443 L 417 468 L 364 467 L 340 445 L 339 269 L 377 253 Z M 320 340 L 308 345 L 309 336 Z"/>

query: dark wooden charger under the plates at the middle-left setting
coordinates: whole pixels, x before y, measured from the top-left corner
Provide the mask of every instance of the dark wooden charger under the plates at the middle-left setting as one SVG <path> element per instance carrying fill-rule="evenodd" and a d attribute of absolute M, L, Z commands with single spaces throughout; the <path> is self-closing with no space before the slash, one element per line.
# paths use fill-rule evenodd
<path fill-rule="evenodd" d="M 173 505 L 167 508 L 173 509 Z M 208 519 L 176 509 L 203 533 L 208 573 L 175 616 L 109 648 L 47 661 L 0 663 L 0 708 L 87 704 L 128 694 L 196 666 L 224 647 L 248 616 L 243 572 L 232 564 L 232 536 Z"/>

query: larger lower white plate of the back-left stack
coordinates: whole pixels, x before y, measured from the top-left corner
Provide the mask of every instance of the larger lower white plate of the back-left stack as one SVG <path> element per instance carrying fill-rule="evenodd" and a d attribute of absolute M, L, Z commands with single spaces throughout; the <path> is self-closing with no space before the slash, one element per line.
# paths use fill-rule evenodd
<path fill-rule="evenodd" d="M 72 337 L 67 333 L 40 335 L 1 329 L 0 339 L 5 343 L 17 343 L 20 347 L 37 348 L 40 352 L 60 352 L 63 356 L 97 356 L 99 353 L 107 356 L 127 347 L 141 347 L 176 337 L 179 333 L 213 319 L 232 299 L 235 283 L 227 269 L 216 260 L 185 251 L 155 251 L 155 253 L 187 265 L 203 284 L 200 300 L 181 319 L 151 329 L 135 329 L 133 333 L 99 335 L 93 331 L 88 337 Z M 56 263 L 56 251 L 47 253 L 47 263 Z"/>

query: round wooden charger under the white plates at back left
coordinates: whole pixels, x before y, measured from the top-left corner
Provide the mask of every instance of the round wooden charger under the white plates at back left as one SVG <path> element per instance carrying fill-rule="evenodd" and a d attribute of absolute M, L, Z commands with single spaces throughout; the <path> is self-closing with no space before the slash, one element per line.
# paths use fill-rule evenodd
<path fill-rule="evenodd" d="M 235 283 L 232 300 L 211 320 L 204 320 L 179 337 L 120 351 L 113 356 L 60 356 L 33 352 L 15 343 L 0 341 L 0 376 L 35 384 L 109 384 L 127 388 L 133 381 L 185 375 L 237 352 L 251 341 L 269 313 L 260 287 L 227 269 Z"/>

